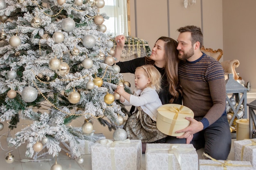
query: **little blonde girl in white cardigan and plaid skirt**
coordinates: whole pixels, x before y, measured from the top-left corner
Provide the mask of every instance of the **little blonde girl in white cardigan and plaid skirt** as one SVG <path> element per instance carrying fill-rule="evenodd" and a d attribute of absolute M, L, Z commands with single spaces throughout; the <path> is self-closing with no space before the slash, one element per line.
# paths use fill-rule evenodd
<path fill-rule="evenodd" d="M 126 106 L 135 106 L 124 129 L 130 139 L 139 139 L 142 151 L 146 149 L 146 143 L 157 141 L 166 137 L 156 127 L 157 108 L 162 106 L 157 92 L 161 89 L 161 74 L 153 65 L 144 65 L 135 70 L 134 95 L 124 91 L 124 87 L 117 86 L 116 92 L 121 95 L 120 102 Z"/>

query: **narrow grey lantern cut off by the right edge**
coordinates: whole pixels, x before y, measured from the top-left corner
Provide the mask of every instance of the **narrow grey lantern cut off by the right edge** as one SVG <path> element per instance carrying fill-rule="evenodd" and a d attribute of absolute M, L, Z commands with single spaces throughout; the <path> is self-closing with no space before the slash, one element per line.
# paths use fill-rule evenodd
<path fill-rule="evenodd" d="M 256 134 L 253 135 L 253 128 L 256 129 L 256 114 L 254 110 L 256 110 L 256 100 L 251 103 L 248 103 L 249 106 L 249 138 L 256 138 Z"/>

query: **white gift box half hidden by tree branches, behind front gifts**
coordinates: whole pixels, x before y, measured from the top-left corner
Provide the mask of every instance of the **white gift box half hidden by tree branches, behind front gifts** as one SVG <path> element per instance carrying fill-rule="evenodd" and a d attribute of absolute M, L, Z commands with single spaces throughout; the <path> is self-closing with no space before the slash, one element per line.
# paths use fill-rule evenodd
<path fill-rule="evenodd" d="M 92 134 L 91 136 L 88 136 L 94 139 L 94 141 L 98 141 L 100 139 L 106 139 L 106 137 L 102 134 Z M 78 149 L 80 150 L 80 154 L 81 155 L 87 155 L 87 154 L 91 154 L 91 146 L 95 143 L 92 141 L 88 141 L 88 140 L 82 140 L 77 138 L 76 139 L 79 143 L 78 143 Z"/>

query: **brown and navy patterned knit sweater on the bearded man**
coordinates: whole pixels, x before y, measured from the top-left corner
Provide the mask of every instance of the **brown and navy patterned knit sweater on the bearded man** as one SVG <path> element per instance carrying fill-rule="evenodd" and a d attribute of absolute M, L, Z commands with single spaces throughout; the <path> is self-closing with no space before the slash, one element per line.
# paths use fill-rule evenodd
<path fill-rule="evenodd" d="M 180 84 L 183 88 L 183 105 L 193 110 L 204 129 L 226 114 L 226 86 L 220 62 L 203 53 L 193 62 L 181 61 Z"/>

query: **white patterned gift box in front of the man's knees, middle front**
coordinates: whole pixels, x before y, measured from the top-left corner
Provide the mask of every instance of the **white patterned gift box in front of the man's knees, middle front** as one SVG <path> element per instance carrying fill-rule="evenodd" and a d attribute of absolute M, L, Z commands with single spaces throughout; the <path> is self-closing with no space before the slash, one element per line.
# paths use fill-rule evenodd
<path fill-rule="evenodd" d="M 198 170 L 192 144 L 147 144 L 146 170 Z"/>

